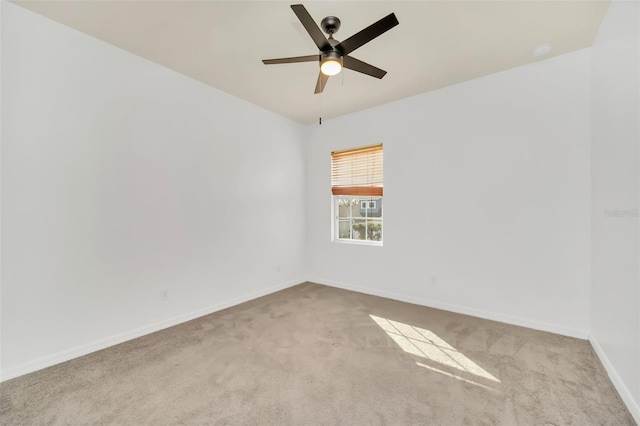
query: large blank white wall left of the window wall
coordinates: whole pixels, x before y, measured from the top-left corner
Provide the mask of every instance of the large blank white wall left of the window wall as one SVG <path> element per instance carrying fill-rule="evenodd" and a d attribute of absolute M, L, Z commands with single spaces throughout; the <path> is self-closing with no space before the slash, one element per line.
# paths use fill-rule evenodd
<path fill-rule="evenodd" d="M 302 280 L 303 127 L 2 7 L 3 379 Z"/>

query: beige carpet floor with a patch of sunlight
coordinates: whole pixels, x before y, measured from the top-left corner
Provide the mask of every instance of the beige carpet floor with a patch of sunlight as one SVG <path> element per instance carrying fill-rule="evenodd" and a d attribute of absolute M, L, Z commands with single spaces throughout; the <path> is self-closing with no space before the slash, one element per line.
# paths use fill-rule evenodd
<path fill-rule="evenodd" d="M 635 424 L 587 341 L 310 283 L 0 391 L 2 425 Z"/>

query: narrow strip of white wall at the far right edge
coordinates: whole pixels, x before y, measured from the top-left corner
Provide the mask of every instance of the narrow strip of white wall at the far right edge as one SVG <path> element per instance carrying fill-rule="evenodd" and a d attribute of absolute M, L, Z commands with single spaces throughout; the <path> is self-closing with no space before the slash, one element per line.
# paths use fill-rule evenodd
<path fill-rule="evenodd" d="M 592 47 L 591 341 L 640 423 L 640 7 L 612 2 Z"/>

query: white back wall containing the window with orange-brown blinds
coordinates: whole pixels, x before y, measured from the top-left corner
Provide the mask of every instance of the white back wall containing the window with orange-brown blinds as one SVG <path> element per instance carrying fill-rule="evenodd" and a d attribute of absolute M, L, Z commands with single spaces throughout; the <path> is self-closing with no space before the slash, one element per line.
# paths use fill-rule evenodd
<path fill-rule="evenodd" d="M 314 127 L 309 279 L 586 338 L 589 69 L 585 49 Z M 330 152 L 378 142 L 384 246 L 331 242 Z"/>

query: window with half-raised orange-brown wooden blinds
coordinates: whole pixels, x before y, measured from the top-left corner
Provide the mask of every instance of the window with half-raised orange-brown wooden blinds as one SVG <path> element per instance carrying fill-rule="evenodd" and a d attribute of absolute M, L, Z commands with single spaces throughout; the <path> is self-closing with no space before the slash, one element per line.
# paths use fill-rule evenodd
<path fill-rule="evenodd" d="M 382 144 L 331 153 L 333 239 L 382 245 Z"/>

